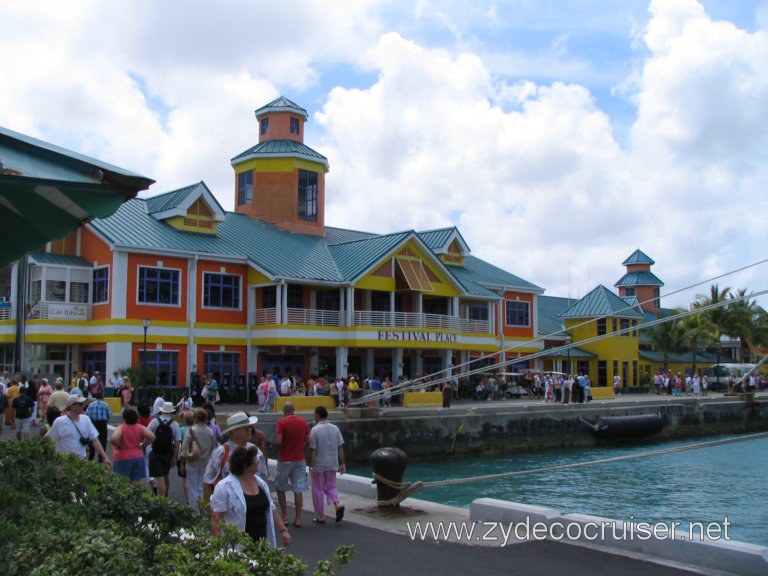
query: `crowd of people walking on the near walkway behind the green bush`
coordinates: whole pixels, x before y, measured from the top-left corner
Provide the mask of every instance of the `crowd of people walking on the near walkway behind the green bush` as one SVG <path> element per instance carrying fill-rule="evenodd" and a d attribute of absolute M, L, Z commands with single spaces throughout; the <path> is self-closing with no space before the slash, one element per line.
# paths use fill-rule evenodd
<path fill-rule="evenodd" d="M 194 406 L 188 394 L 178 402 L 158 396 L 151 407 L 135 406 L 130 379 L 118 373 L 115 376 L 120 381 L 113 380 L 116 390 L 111 395 L 121 398 L 122 423 L 111 435 L 108 423 L 112 411 L 103 400 L 103 387 L 98 381 L 91 387 L 90 378 L 81 373 L 72 378 L 68 387 L 62 378 L 57 378 L 53 387 L 45 378 L 26 382 L 24 378 L 11 377 L 7 385 L 1 382 L 0 398 L 10 400 L 7 410 L 0 405 L 1 420 L 4 425 L 16 426 L 19 440 L 29 436 L 33 419 L 41 420 L 40 434 L 53 441 L 59 453 L 98 460 L 131 482 L 147 485 L 160 497 L 168 496 L 170 473 L 175 468 L 183 482 L 188 506 L 209 516 L 214 536 L 221 534 L 221 525 L 227 522 L 254 540 L 266 539 L 273 547 L 278 541 L 288 546 L 288 526 L 301 527 L 303 493 L 310 489 L 316 523 L 326 522 L 326 500 L 334 507 L 335 520 L 343 519 L 345 510 L 336 489 L 336 474 L 345 471 L 344 440 L 338 427 L 328 421 L 325 408 L 315 411 L 315 426 L 310 429 L 295 414 L 292 403 L 284 405 L 275 435 L 275 502 L 267 483 L 266 436 L 256 427 L 257 416 L 237 412 L 227 418 L 221 429 L 213 402 L 218 397 L 217 389 L 208 379 L 209 401 L 201 406 Z M 311 391 L 317 393 L 320 389 L 322 395 L 325 385 L 318 379 L 312 382 Z M 343 405 L 345 389 L 354 389 L 354 379 L 336 386 L 339 405 Z M 298 390 L 294 380 L 281 386 L 281 391 L 288 395 L 297 394 Z M 130 394 L 123 395 L 125 391 Z M 330 391 L 328 385 L 329 394 Z M 265 402 L 267 397 L 268 394 Z M 289 491 L 293 493 L 295 510 L 291 522 L 286 499 Z"/>

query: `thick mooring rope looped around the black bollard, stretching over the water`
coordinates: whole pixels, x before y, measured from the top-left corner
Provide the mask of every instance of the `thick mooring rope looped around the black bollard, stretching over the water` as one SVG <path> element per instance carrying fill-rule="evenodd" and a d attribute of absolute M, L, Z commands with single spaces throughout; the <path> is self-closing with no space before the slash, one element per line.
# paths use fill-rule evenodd
<path fill-rule="evenodd" d="M 737 438 L 724 438 L 722 440 L 712 440 L 709 442 L 700 442 L 698 444 L 687 444 L 685 446 L 676 446 L 674 448 L 662 448 L 660 450 L 652 450 L 650 452 L 641 452 L 639 454 L 624 454 L 622 456 L 613 456 L 611 458 L 601 458 L 599 460 L 589 460 L 587 462 L 575 462 L 572 464 L 558 464 L 557 466 L 544 466 L 542 468 L 533 468 L 531 470 L 516 470 L 515 472 L 502 472 L 499 474 L 486 474 L 483 476 L 472 476 L 470 478 L 452 478 L 448 480 L 438 480 L 435 482 L 393 482 L 376 474 L 374 472 L 373 478 L 377 482 L 381 482 L 386 486 L 394 490 L 407 491 L 409 494 L 415 492 L 421 488 L 438 488 L 441 486 L 457 486 L 459 484 L 474 484 L 475 482 L 485 482 L 486 480 L 500 480 L 502 478 L 512 478 L 514 476 L 525 476 L 528 474 L 539 474 L 541 472 L 554 472 L 556 470 L 566 470 L 569 468 L 579 468 L 582 466 L 593 466 L 595 464 L 608 464 L 610 462 L 621 462 L 623 460 L 633 460 L 635 458 L 646 458 L 648 456 L 659 456 L 663 454 L 674 454 L 676 452 L 686 452 L 688 450 L 698 450 L 700 448 L 711 448 L 714 446 L 722 446 L 724 444 L 732 444 L 734 442 L 744 442 L 747 440 L 759 440 L 762 438 L 768 438 L 768 432 L 760 432 L 758 434 L 748 434 L 746 436 L 739 436 Z M 399 495 L 398 495 L 399 496 Z M 405 496 L 399 498 L 403 500 Z M 397 498 L 393 498 L 395 500 Z"/>

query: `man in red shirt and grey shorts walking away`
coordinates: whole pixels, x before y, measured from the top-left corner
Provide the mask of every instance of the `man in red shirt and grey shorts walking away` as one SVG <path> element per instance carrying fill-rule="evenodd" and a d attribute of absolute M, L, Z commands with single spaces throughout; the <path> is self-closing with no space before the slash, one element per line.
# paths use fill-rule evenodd
<path fill-rule="evenodd" d="M 277 478 L 275 488 L 280 502 L 283 522 L 288 522 L 288 507 L 285 493 L 293 491 L 296 516 L 293 525 L 301 527 L 301 509 L 304 507 L 304 492 L 309 488 L 305 451 L 309 445 L 309 425 L 306 420 L 294 414 L 295 408 L 290 402 L 283 406 L 283 417 L 277 421 L 275 444 L 280 447 L 277 458 Z"/>

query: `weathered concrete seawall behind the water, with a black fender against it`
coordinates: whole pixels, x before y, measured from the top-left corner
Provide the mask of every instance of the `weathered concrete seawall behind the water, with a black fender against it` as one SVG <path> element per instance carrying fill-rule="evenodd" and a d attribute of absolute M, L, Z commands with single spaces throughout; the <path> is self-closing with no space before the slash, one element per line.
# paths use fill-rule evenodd
<path fill-rule="evenodd" d="M 348 460 L 367 462 L 382 446 L 401 448 L 412 458 L 594 446 L 604 441 L 579 419 L 594 422 L 605 416 L 660 414 L 664 427 L 653 436 L 658 439 L 766 431 L 767 400 L 645 396 L 576 405 L 470 402 L 447 410 L 349 409 L 332 412 L 331 419 L 344 435 Z M 270 441 L 279 417 L 260 416 Z"/>

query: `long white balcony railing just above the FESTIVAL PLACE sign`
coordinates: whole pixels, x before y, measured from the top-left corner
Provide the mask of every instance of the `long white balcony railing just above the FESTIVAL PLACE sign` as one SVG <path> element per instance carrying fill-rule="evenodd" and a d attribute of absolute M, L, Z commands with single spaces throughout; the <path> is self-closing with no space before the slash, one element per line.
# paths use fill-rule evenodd
<path fill-rule="evenodd" d="M 288 308 L 285 324 L 300 326 L 343 326 L 344 313 L 338 310 L 312 310 L 308 308 Z M 358 310 L 354 314 L 354 326 L 372 326 L 381 328 L 432 328 L 452 330 L 472 334 L 488 334 L 490 326 L 484 320 L 465 320 L 442 314 L 418 314 L 415 312 L 376 312 Z M 256 310 L 254 324 L 277 323 L 276 308 Z"/>

